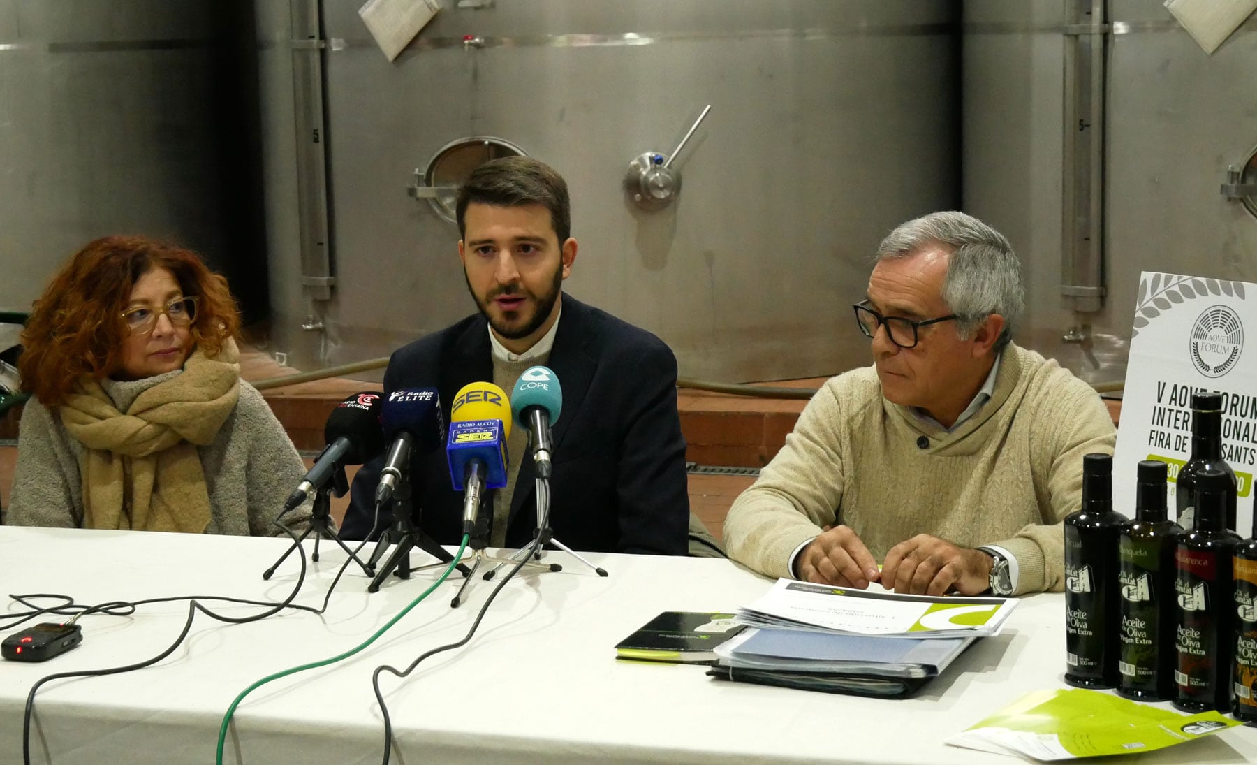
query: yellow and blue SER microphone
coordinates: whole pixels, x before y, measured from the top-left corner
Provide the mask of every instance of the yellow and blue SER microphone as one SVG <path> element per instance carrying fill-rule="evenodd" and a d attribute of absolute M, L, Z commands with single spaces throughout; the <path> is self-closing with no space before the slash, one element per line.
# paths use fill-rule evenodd
<path fill-rule="evenodd" d="M 507 486 L 507 439 L 510 438 L 510 401 L 493 382 L 463 386 L 450 408 L 450 438 L 445 455 L 450 482 L 463 492 L 463 532 L 475 530 L 484 488 Z"/>

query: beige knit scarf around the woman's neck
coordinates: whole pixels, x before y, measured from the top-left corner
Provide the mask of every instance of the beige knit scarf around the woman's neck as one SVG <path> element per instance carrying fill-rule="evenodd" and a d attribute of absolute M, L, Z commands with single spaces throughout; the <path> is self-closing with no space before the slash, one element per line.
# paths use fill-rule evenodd
<path fill-rule="evenodd" d="M 98 380 L 83 380 L 59 406 L 62 423 L 87 452 L 85 528 L 202 533 L 210 496 L 196 452 L 210 444 L 240 396 L 235 342 L 206 357 L 200 350 L 176 375 L 141 393 L 118 411 Z"/>

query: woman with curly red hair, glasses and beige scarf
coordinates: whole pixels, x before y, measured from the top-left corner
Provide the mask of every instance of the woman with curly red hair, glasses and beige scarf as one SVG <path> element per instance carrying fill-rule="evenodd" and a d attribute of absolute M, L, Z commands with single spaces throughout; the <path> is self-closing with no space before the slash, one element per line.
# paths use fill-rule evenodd
<path fill-rule="evenodd" d="M 106 237 L 79 250 L 21 336 L 33 398 L 5 522 L 279 532 L 304 466 L 240 380 L 239 326 L 226 279 L 186 249 Z"/>

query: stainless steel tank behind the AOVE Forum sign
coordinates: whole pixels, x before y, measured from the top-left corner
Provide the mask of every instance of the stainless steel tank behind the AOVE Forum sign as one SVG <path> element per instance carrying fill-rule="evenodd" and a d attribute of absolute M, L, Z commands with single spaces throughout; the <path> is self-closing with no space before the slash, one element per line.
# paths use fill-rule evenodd
<path fill-rule="evenodd" d="M 964 208 L 1021 254 L 1019 342 L 1121 381 L 1141 271 L 1257 279 L 1257 219 L 1221 193 L 1257 147 L 1257 19 L 1212 55 L 1160 0 L 967 0 L 963 34 Z M 1077 67 L 1086 40 L 1097 81 Z M 1086 208 L 1070 204 L 1089 195 L 1095 262 Z"/>

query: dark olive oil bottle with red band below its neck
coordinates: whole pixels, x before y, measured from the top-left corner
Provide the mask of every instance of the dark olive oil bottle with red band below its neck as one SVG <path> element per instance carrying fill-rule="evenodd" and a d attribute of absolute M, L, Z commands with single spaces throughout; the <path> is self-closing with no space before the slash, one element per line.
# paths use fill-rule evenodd
<path fill-rule="evenodd" d="M 1177 576 L 1174 706 L 1189 712 L 1231 710 L 1234 656 L 1232 556 L 1239 537 L 1226 528 L 1231 477 L 1195 474 L 1195 527 L 1179 537 Z"/>

